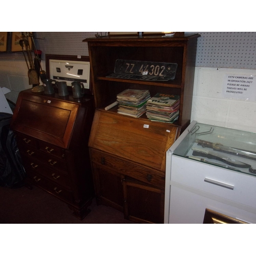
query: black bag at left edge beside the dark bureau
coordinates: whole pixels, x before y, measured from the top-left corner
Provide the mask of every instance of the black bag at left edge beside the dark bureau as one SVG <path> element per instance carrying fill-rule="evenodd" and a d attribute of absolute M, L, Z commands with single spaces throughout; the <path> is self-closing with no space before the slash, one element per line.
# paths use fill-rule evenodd
<path fill-rule="evenodd" d="M 0 112 L 0 186 L 15 188 L 25 184 L 27 175 L 10 129 L 11 119 L 12 114 Z"/>

